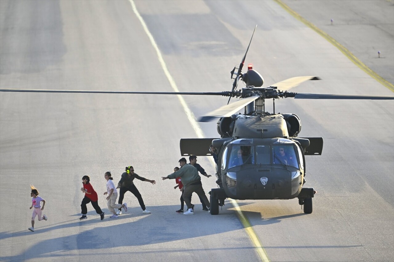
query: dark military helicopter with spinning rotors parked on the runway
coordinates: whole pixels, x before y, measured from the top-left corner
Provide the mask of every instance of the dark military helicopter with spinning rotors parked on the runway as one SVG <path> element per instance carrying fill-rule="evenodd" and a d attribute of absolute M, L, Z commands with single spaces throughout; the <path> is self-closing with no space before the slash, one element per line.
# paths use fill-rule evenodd
<path fill-rule="evenodd" d="M 256 26 L 257 27 L 257 26 Z M 255 27 L 255 30 L 256 30 Z M 225 92 L 136 92 L 91 90 L 42 90 L 0 89 L 0 92 L 58 92 L 58 93 L 113 93 L 113 94 L 176 94 L 213 95 L 240 98 L 227 103 L 199 118 L 208 122 L 219 118 L 217 132 L 220 138 L 180 139 L 182 156 L 212 156 L 210 145 L 217 149 L 216 175 L 218 188 L 210 193 L 210 214 L 219 214 L 219 206 L 226 198 L 232 199 L 293 199 L 298 198 L 304 213 L 312 213 L 314 188 L 305 188 L 305 155 L 321 155 L 323 138 L 299 138 L 301 120 L 296 114 L 276 114 L 275 99 L 368 99 L 393 100 L 394 96 L 360 96 L 334 94 L 301 94 L 288 92 L 292 87 L 316 76 L 292 77 L 269 87 L 262 87 L 263 77 L 248 66 L 242 74 L 243 65 L 253 35 L 240 65 L 230 72 L 234 79 L 232 90 Z M 239 81 L 245 87 L 236 90 Z M 265 111 L 265 101 L 273 100 L 273 113 Z M 244 113 L 236 114 L 244 108 Z"/>

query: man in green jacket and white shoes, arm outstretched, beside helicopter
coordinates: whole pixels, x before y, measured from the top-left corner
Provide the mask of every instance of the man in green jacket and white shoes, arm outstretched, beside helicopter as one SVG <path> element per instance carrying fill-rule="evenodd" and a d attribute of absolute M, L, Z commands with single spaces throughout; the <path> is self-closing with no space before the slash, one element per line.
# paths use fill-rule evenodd
<path fill-rule="evenodd" d="M 210 208 L 210 204 L 208 201 L 208 197 L 206 197 L 204 189 L 203 189 L 203 184 L 201 184 L 201 177 L 198 174 L 197 168 L 190 164 L 186 164 L 186 159 L 182 157 L 179 159 L 179 165 L 180 168 L 177 172 L 172 173 L 171 175 L 167 175 L 166 177 L 162 177 L 163 180 L 165 179 L 175 179 L 177 177 L 180 177 L 182 179 L 182 184 L 183 184 L 183 199 L 188 206 L 188 211 L 183 212 L 184 215 L 193 215 L 194 211 L 193 208 L 191 207 L 191 194 L 195 192 L 200 199 L 202 199 L 208 207 L 208 210 Z"/>

